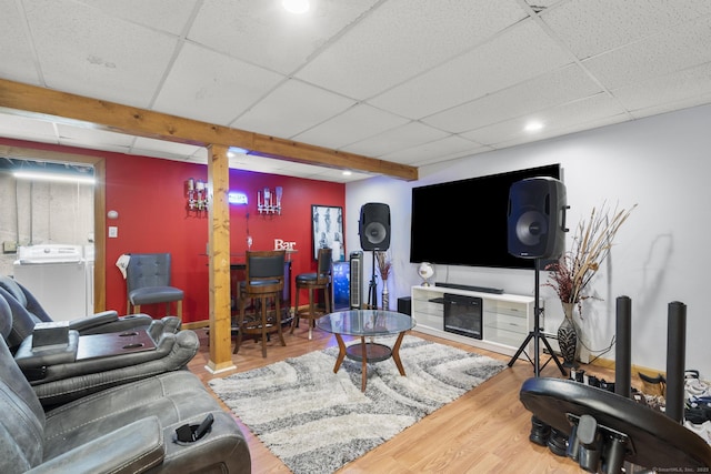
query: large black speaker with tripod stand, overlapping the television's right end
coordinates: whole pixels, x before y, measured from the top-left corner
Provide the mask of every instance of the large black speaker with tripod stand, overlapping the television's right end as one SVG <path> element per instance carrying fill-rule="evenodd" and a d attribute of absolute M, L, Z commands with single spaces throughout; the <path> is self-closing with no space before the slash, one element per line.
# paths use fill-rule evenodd
<path fill-rule="evenodd" d="M 509 366 L 519 359 L 533 340 L 533 372 L 538 377 L 540 366 L 540 342 L 555 361 L 563 376 L 563 365 L 553 353 L 545 335 L 541 332 L 540 316 L 540 271 L 541 260 L 558 259 L 565 248 L 565 186 L 553 178 L 530 178 L 511 184 L 509 190 L 508 245 L 509 253 L 521 259 L 535 260 L 533 331 L 529 332 Z M 528 354 L 527 354 L 528 356 Z M 550 360 L 548 361 L 550 362 Z M 545 362 L 545 364 L 548 364 Z M 543 366 L 545 366 L 545 364 Z"/>

